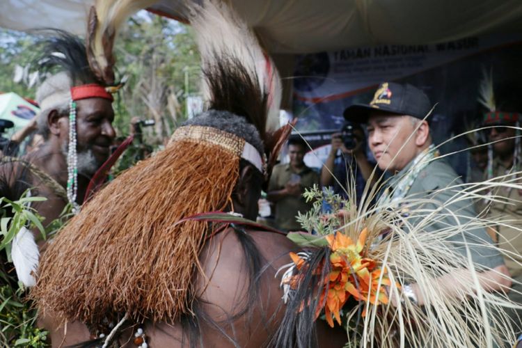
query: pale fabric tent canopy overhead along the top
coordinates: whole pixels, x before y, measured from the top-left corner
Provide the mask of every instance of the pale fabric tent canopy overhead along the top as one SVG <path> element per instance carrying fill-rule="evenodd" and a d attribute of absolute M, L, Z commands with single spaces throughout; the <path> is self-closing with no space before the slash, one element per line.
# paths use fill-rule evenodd
<path fill-rule="evenodd" d="M 231 0 L 271 53 L 420 44 L 522 31 L 521 0 Z M 84 33 L 93 0 L 1 0 L 0 26 Z M 152 10 L 183 19 L 179 1 Z"/>

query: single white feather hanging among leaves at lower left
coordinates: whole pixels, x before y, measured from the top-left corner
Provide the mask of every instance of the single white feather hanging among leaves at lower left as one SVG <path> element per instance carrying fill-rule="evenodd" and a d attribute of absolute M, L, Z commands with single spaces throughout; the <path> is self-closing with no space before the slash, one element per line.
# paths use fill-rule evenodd
<path fill-rule="evenodd" d="M 26 287 L 35 285 L 34 275 L 38 269 L 40 251 L 34 240 L 33 233 L 25 226 L 13 238 L 11 258 L 15 264 L 16 275 Z"/>

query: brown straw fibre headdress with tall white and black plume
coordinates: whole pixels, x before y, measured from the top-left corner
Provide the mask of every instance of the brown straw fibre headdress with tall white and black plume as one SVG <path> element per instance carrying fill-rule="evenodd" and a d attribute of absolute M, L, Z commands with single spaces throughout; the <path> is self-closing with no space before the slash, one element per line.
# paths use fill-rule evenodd
<path fill-rule="evenodd" d="M 280 135 L 290 132 L 274 132 L 278 75 L 251 31 L 221 5 L 187 6 L 208 110 L 177 129 L 164 151 L 102 189 L 59 233 L 33 292 L 42 310 L 84 322 L 111 313 L 173 322 L 191 313 L 193 276 L 212 228 L 177 222 L 230 209 L 240 163 L 267 173 Z"/>

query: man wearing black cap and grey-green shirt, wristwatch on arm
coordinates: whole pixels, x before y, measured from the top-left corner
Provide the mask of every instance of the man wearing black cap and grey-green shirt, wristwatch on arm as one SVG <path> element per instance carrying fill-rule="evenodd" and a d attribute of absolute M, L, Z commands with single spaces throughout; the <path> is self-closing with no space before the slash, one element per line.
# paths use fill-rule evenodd
<path fill-rule="evenodd" d="M 422 230 L 426 232 L 454 226 L 455 218 L 448 212 L 457 214 L 461 224 L 476 216 L 472 202 L 455 202 L 453 199 L 459 193 L 455 187 L 462 184 L 457 173 L 445 161 L 434 160 L 438 157 L 438 151 L 432 144 L 427 121 L 431 110 L 432 104 L 427 95 L 418 88 L 386 82 L 379 86 L 370 104 L 352 105 L 345 111 L 347 120 L 367 123 L 368 145 L 377 165 L 393 175 L 377 204 L 382 207 L 402 206 L 405 221 L 411 226 L 422 223 Z M 409 200 L 407 204 L 404 198 Z M 429 199 L 433 203 L 426 200 L 419 203 L 419 198 Z M 452 203 L 448 203 L 449 200 Z M 429 218 L 422 216 L 422 208 L 428 208 L 428 205 L 431 205 L 430 211 L 440 209 L 441 213 Z M 480 277 L 484 288 L 499 290 L 509 287 L 510 281 L 503 276 L 509 276 L 509 272 L 498 251 L 491 247 L 491 238 L 483 228 L 470 228 L 448 239 L 454 242 L 457 252 L 470 255 L 477 267 L 488 269 Z M 463 276 L 471 274 L 468 271 L 458 275 L 447 274 L 436 279 L 435 285 L 452 296 L 466 291 L 460 289 L 460 282 L 456 281 Z M 406 293 L 423 305 L 422 294 L 416 284 L 408 286 L 410 289 Z"/>

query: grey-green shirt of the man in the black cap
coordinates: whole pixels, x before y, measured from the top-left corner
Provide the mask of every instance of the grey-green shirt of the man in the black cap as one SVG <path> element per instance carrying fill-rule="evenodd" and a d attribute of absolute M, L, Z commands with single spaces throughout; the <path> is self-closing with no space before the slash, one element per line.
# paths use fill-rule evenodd
<path fill-rule="evenodd" d="M 411 169 L 410 167 L 411 162 L 406 168 L 403 168 L 402 171 L 393 177 L 391 185 L 393 186 L 405 173 L 408 173 Z M 438 204 L 422 203 L 422 205 L 417 205 L 415 209 L 418 213 L 416 213 L 415 216 L 409 216 L 409 223 L 413 226 L 418 226 L 419 223 L 422 223 L 424 225 L 422 230 L 432 232 L 456 224 L 455 218 L 450 216 L 448 212 L 458 215 L 460 224 L 464 224 L 467 222 L 467 219 L 472 219 L 477 216 L 475 208 L 473 207 L 473 200 L 465 199 L 454 202 L 442 209 L 440 213 L 424 219 L 426 214 L 421 211 L 423 208 L 429 209 L 429 211 L 440 208 L 441 205 L 448 202 L 450 198 L 459 195 L 459 188 L 454 186 L 460 184 L 462 184 L 462 180 L 444 160 L 436 159 L 427 164 L 427 166 L 418 173 L 406 196 L 411 198 L 432 199 Z M 454 188 L 445 189 L 447 187 Z M 494 268 L 504 263 L 499 251 L 491 247 L 493 241 L 484 228 L 469 228 L 463 234 L 455 234 L 448 237 L 448 239 L 453 242 L 452 244 L 455 250 L 462 255 L 466 255 L 466 248 L 464 246 L 464 241 L 466 241 L 470 249 L 471 258 L 477 265 Z"/>

